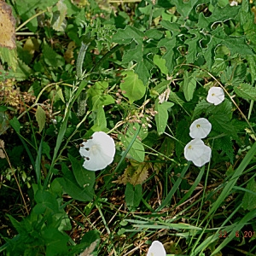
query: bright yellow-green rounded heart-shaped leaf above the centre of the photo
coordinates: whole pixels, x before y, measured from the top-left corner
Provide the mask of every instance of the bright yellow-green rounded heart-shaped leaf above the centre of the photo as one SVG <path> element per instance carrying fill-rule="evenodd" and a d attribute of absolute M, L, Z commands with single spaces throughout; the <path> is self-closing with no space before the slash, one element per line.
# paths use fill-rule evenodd
<path fill-rule="evenodd" d="M 143 81 L 132 71 L 125 71 L 122 75 L 126 75 L 124 82 L 120 84 L 120 89 L 125 90 L 124 96 L 127 96 L 131 103 L 140 100 L 146 92 Z"/>

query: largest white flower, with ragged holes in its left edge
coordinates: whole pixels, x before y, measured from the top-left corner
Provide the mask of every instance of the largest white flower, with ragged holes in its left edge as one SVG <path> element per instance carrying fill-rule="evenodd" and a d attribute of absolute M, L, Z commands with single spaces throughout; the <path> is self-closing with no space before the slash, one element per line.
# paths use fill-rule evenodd
<path fill-rule="evenodd" d="M 103 131 L 96 131 L 92 138 L 82 143 L 79 153 L 84 157 L 84 168 L 102 170 L 112 163 L 115 154 L 113 138 Z"/>

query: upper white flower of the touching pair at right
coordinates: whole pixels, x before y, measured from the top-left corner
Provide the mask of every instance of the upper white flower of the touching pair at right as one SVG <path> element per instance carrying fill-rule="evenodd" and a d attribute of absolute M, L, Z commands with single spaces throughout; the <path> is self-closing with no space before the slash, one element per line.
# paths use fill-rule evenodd
<path fill-rule="evenodd" d="M 190 125 L 189 136 L 192 138 L 204 138 L 204 137 L 207 137 L 211 129 L 212 129 L 212 124 L 207 119 L 204 119 L 204 118 L 196 119 Z"/>

